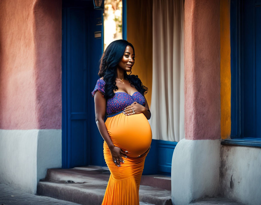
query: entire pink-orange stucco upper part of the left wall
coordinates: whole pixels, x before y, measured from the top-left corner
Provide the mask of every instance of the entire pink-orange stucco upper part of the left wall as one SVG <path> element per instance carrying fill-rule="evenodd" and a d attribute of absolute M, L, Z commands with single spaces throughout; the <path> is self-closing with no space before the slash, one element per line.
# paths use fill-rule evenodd
<path fill-rule="evenodd" d="M 0 129 L 61 129 L 61 0 L 0 2 Z"/>

